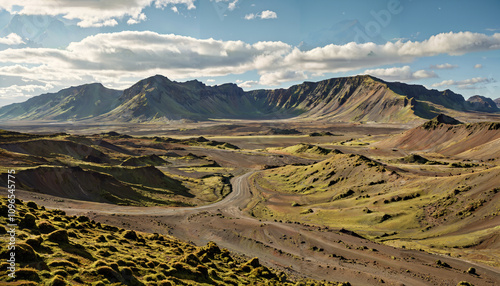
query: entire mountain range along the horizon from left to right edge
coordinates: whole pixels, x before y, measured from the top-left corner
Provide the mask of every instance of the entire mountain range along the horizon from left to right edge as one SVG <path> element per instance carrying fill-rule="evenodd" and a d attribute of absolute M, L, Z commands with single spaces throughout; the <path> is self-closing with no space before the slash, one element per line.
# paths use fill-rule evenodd
<path fill-rule="evenodd" d="M 368 76 L 304 82 L 287 89 L 244 91 L 236 84 L 207 86 L 155 75 L 125 90 L 85 84 L 0 108 L 0 120 L 155 122 L 208 119 L 326 119 L 412 122 L 447 111 L 496 113 L 490 98 L 468 100 L 451 90 L 385 82 Z"/>

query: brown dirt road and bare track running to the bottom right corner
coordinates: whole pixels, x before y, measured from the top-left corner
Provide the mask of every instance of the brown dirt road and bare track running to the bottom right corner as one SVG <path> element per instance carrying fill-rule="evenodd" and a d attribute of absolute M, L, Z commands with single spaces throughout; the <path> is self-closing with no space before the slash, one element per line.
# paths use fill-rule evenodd
<path fill-rule="evenodd" d="M 197 245 L 214 241 L 231 251 L 259 257 L 268 266 L 298 277 L 349 281 L 353 285 L 499 285 L 500 270 L 447 256 L 396 249 L 318 226 L 260 221 L 241 209 L 251 200 L 249 171 L 232 179 L 223 200 L 199 207 L 126 207 L 61 199 L 19 191 L 25 200 L 68 214 L 145 232 L 171 234 Z M 451 267 L 436 265 L 437 260 Z M 478 275 L 465 273 L 475 267 Z"/>

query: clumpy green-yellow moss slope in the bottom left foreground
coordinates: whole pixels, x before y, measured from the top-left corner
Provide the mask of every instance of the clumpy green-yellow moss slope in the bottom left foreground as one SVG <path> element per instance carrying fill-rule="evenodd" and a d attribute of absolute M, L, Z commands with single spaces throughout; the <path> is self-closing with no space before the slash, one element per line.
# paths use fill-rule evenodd
<path fill-rule="evenodd" d="M 1 198 L 2 209 L 6 201 Z M 19 201 L 17 207 L 20 219 L 34 218 L 35 226 L 20 226 L 17 232 L 16 285 L 295 285 L 283 273 L 263 266 L 258 258 L 245 261 L 233 257 L 213 242 L 197 247 L 167 235 L 125 230 L 45 210 L 33 202 L 28 207 Z M 51 224 L 54 230 L 41 232 L 44 224 Z M 0 226 L 6 225 L 7 217 L 1 216 Z M 9 255 L 7 248 L 0 251 L 2 260 Z M 2 267 L 0 284 L 7 282 L 14 281 Z"/>

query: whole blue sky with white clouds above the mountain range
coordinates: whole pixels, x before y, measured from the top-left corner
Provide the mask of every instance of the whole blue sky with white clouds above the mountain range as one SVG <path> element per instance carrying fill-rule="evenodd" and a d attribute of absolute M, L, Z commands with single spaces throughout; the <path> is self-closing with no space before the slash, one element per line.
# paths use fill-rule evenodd
<path fill-rule="evenodd" d="M 161 74 L 245 90 L 370 74 L 500 97 L 500 1 L 0 0 L 0 106 Z"/>

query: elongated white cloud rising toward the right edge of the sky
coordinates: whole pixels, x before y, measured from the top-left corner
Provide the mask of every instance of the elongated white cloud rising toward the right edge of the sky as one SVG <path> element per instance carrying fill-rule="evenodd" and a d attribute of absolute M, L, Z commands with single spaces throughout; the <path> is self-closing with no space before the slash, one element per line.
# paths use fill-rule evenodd
<path fill-rule="evenodd" d="M 327 45 L 308 51 L 294 48 L 277 68 L 299 68 L 310 72 L 346 72 L 379 65 L 412 62 L 419 57 L 500 49 L 500 34 L 459 32 L 431 36 L 422 42 L 387 42 Z"/>

